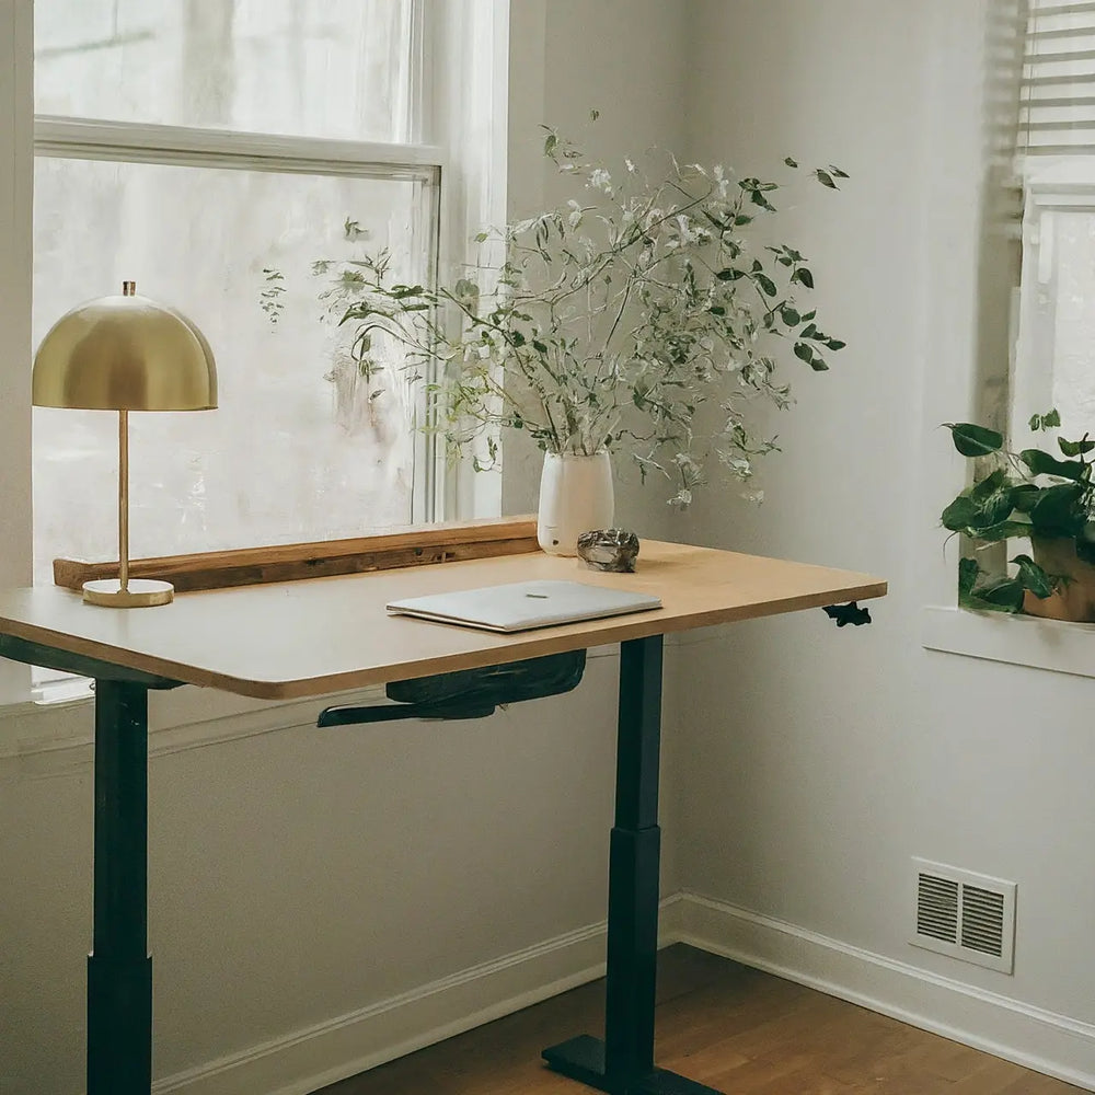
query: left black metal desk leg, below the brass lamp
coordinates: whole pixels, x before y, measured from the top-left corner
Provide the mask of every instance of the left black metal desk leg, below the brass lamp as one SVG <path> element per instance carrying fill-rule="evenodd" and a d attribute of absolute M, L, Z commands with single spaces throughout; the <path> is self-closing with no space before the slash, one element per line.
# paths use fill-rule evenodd
<path fill-rule="evenodd" d="M 95 681 L 95 907 L 88 1095 L 149 1095 L 148 688 Z"/>

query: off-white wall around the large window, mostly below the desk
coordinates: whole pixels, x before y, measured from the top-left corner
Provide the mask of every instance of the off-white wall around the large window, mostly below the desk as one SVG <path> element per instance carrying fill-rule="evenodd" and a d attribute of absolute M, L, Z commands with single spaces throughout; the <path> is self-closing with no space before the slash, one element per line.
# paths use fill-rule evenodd
<path fill-rule="evenodd" d="M 515 9 L 515 210 L 551 188 L 542 120 L 573 127 L 597 106 L 610 152 L 679 141 L 683 9 L 658 0 L 592 9 L 520 0 Z M 646 72 L 637 101 L 634 66 Z M 0 165 L 10 155 L 0 146 Z M 13 264 L 7 247 L 0 235 L 2 269 Z M 507 470 L 509 511 L 530 508 L 537 475 L 534 461 Z M 493 1000 L 474 984 L 410 1003 L 403 993 L 515 952 L 526 952 L 538 988 L 596 967 L 602 942 L 581 933 L 604 917 L 616 665 L 614 655 L 596 658 L 575 693 L 477 723 L 320 731 L 314 703 L 268 733 L 154 752 L 154 1074 L 195 1095 L 280 1091 L 309 1076 L 319 1086 L 321 1075 L 331 1082 L 443 1026 L 443 1001 L 461 992 L 471 993 L 465 1015 L 517 999 L 529 983 L 503 964 Z M 207 718 L 203 694 L 186 691 L 153 695 L 153 719 Z M 218 724 L 226 734 L 279 721 L 240 710 Z M 0 748 L 4 1095 L 82 1090 L 91 768 L 87 747 L 41 747 L 85 737 L 90 721 L 87 706 L 0 716 L 0 742 L 16 742 Z M 667 863 L 671 892 L 671 854 Z M 555 965 L 551 954 L 527 953 L 575 932 Z M 411 1019 L 369 1011 L 393 998 L 390 1013 L 410 1008 Z M 264 1068 L 273 1071 L 261 1083 Z"/>

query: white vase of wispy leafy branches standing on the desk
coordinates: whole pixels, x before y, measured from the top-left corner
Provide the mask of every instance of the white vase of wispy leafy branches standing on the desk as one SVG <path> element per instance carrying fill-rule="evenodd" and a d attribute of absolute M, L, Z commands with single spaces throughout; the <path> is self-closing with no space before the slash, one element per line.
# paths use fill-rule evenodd
<path fill-rule="evenodd" d="M 484 257 L 452 283 L 402 284 L 385 251 L 313 270 L 353 325 L 362 374 L 435 378 L 431 428 L 450 449 L 477 443 L 483 469 L 504 428 L 531 435 L 544 451 L 540 543 L 573 555 L 578 533 L 612 523 L 610 453 L 629 453 L 644 480 L 668 476 L 678 506 L 712 461 L 748 483 L 776 448 L 756 435 L 750 400 L 793 402 L 777 358 L 820 371 L 844 343 L 799 302 L 814 289 L 803 254 L 768 226 L 750 240 L 776 211 L 777 183 L 671 155 L 653 178 L 632 160 L 613 175 L 545 130 L 575 197 L 480 233 Z M 830 189 L 846 177 L 810 174 Z"/>

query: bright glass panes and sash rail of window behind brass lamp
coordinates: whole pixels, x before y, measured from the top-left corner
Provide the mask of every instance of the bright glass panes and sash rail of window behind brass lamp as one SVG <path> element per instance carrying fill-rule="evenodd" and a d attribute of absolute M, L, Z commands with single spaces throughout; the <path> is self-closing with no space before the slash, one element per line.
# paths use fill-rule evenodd
<path fill-rule="evenodd" d="M 36 113 L 65 120 L 37 129 L 34 344 L 135 279 L 193 318 L 220 366 L 216 414 L 134 423 L 135 556 L 412 519 L 417 396 L 358 374 L 351 332 L 311 272 L 390 247 L 401 274 L 431 276 L 438 172 L 410 145 L 403 163 L 391 150 L 415 128 L 412 12 L 410 0 L 36 0 Z M 362 141 L 388 145 L 387 162 L 367 162 Z M 108 419 L 35 411 L 37 581 L 58 555 L 115 557 Z"/>

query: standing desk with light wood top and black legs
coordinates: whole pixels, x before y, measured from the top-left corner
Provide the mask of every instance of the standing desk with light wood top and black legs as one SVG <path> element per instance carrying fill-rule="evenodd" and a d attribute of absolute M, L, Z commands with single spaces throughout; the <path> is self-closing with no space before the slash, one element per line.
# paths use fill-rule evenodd
<path fill-rule="evenodd" d="M 384 612 L 396 597 L 531 579 L 652 592 L 664 607 L 510 635 Z M 710 1095 L 654 1064 L 662 636 L 885 592 L 867 575 L 653 541 L 635 574 L 531 553 L 182 593 L 147 609 L 96 608 L 56 587 L 0 591 L 0 655 L 95 679 L 88 1095 L 149 1095 L 151 1085 L 150 690 L 196 684 L 288 700 L 608 643 L 621 655 L 604 1038 L 580 1035 L 543 1057 L 611 1095 Z"/>

